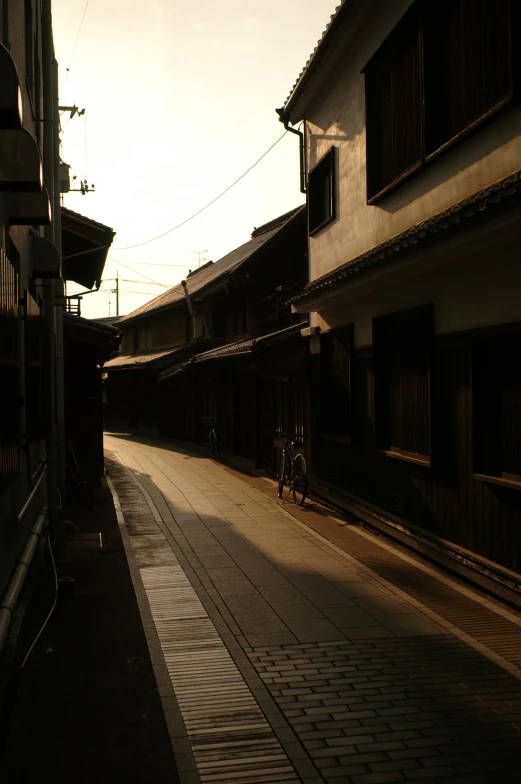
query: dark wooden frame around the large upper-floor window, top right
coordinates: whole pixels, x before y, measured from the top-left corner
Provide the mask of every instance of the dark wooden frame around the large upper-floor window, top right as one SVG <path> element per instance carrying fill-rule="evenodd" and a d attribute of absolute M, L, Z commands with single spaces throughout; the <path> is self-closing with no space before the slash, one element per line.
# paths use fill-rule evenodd
<path fill-rule="evenodd" d="M 456 133 L 446 142 L 441 144 L 437 149 L 428 152 L 426 149 L 426 116 L 425 116 L 425 62 L 424 62 L 424 36 L 423 36 L 423 12 L 422 7 L 424 5 L 425 0 L 415 0 L 415 2 L 409 7 L 409 9 L 405 12 L 404 16 L 400 19 L 398 24 L 394 27 L 394 29 L 390 32 L 387 36 L 385 41 L 381 44 L 375 54 L 371 57 L 369 62 L 363 68 L 362 73 L 366 77 L 366 139 L 367 139 L 367 148 L 366 148 L 366 156 L 367 156 L 367 203 L 369 205 L 377 203 L 380 199 L 386 196 L 390 191 L 394 190 L 397 186 L 399 186 L 403 181 L 408 180 L 415 172 L 423 169 L 423 167 L 430 163 L 431 161 L 438 158 L 439 155 L 442 155 L 447 149 L 450 149 L 459 141 L 467 137 L 469 134 L 473 133 L 476 129 L 481 127 L 484 123 L 486 123 L 492 117 L 495 117 L 502 109 L 510 106 L 515 98 L 519 96 L 520 87 L 521 87 L 521 55 L 516 51 L 514 45 L 514 31 L 516 27 L 516 22 L 519 16 L 521 16 L 519 8 L 515 5 L 517 0 L 511 0 L 510 4 L 510 16 L 509 16 L 509 26 L 510 26 L 510 90 L 509 93 L 499 100 L 494 106 L 490 109 L 485 111 L 475 120 L 470 122 L 463 128 L 460 132 Z M 381 187 L 376 192 L 371 192 L 371 181 L 370 181 L 370 172 L 372 168 L 372 163 L 369 159 L 370 155 L 374 156 L 374 153 L 371 153 L 369 147 L 371 142 L 369 141 L 371 138 L 371 128 L 370 128 L 370 96 L 368 94 L 368 74 L 371 73 L 373 69 L 375 69 L 376 64 L 382 58 L 385 60 L 386 51 L 389 48 L 390 42 L 392 39 L 399 34 L 400 26 L 406 16 L 408 16 L 414 8 L 418 9 L 418 18 L 419 18 L 419 29 L 418 29 L 418 47 L 419 47 L 419 56 L 420 56 L 420 80 L 421 80 L 421 117 L 420 117 L 420 126 L 421 126 L 421 159 L 415 163 L 414 165 L 409 166 L 399 175 L 397 175 L 391 182 Z"/>

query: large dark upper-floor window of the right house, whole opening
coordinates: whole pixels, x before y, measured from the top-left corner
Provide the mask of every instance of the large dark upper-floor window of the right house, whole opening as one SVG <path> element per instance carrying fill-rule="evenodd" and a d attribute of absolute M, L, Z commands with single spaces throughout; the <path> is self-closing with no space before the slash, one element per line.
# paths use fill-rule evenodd
<path fill-rule="evenodd" d="M 416 0 L 365 67 L 371 202 L 514 97 L 517 0 Z"/>

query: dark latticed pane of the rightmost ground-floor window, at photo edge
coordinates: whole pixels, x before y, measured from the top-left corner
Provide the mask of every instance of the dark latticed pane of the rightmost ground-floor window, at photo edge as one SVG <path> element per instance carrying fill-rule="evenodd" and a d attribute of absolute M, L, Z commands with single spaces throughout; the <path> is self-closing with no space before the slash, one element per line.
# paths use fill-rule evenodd
<path fill-rule="evenodd" d="M 474 472 L 521 485 L 521 331 L 473 341 L 472 407 Z"/>

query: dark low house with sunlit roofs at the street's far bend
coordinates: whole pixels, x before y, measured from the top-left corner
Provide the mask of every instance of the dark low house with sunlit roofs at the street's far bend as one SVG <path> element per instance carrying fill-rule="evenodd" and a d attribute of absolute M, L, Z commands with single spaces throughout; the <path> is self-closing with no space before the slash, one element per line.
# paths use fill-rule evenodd
<path fill-rule="evenodd" d="M 271 465 L 277 423 L 294 429 L 290 389 L 299 387 L 304 409 L 306 323 L 292 316 L 288 298 L 306 280 L 306 214 L 299 207 L 121 319 L 123 353 L 104 366 L 109 426 L 152 426 L 207 443 L 215 416 L 224 450 Z M 174 323 L 176 342 L 168 332 Z M 303 433 L 300 419 L 298 427 Z"/>

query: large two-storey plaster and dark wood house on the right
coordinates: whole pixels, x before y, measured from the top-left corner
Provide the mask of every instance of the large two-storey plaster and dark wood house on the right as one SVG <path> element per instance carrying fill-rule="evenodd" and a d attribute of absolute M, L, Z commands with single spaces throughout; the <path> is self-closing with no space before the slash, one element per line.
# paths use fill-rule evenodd
<path fill-rule="evenodd" d="M 344 0 L 278 110 L 304 128 L 314 491 L 496 589 L 521 571 L 520 11 Z"/>

